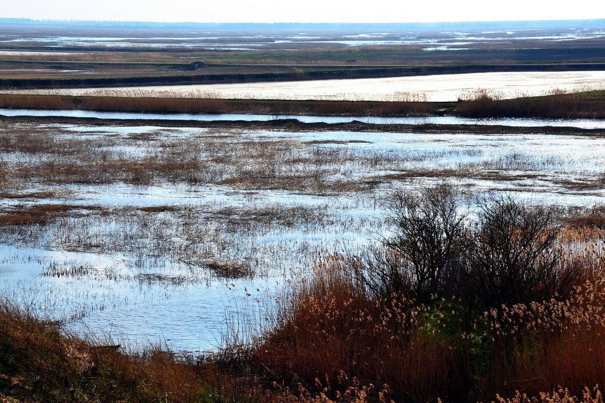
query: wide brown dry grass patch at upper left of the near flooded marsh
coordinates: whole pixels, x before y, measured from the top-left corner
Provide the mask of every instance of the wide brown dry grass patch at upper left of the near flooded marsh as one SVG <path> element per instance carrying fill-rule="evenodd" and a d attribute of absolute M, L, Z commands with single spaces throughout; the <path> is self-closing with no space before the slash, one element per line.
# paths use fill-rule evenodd
<path fill-rule="evenodd" d="M 38 181 L 54 184 L 189 184 L 232 185 L 244 189 L 294 190 L 333 193 L 365 190 L 363 181 L 330 179 L 344 163 L 373 163 L 346 150 L 309 148 L 298 140 L 255 141 L 233 135 L 192 137 L 186 140 L 137 135 L 117 138 L 47 137 L 45 132 L 24 129 L 4 133 L 5 152 L 42 154 L 41 160 L 25 159 L 11 163 L 8 180 L 15 183 Z M 143 139 L 143 140 L 142 140 Z M 143 143 L 142 143 L 143 142 Z M 114 152 L 111 147 L 132 147 L 133 155 Z M 159 149 L 159 151 L 154 151 Z M 137 155 L 142 150 L 142 155 Z M 150 155 L 146 155 L 149 154 Z"/>

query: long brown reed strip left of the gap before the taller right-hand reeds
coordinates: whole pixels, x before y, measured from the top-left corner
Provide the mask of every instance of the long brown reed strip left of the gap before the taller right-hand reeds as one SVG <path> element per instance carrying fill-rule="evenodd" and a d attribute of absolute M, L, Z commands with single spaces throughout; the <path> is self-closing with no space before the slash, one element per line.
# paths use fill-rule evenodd
<path fill-rule="evenodd" d="M 67 109 L 108 112 L 159 112 L 208 114 L 300 114 L 300 115 L 428 115 L 436 106 L 422 94 L 405 92 L 385 95 L 374 102 L 348 99 L 283 101 L 255 100 L 241 94 L 239 99 L 224 99 L 213 91 L 186 91 L 176 96 L 171 91 L 99 89 L 91 95 L 65 96 L 47 90 L 45 94 L 0 94 L 0 108 Z M 246 99 L 249 98 L 249 99 Z M 342 99 L 340 99 L 342 98 Z"/>

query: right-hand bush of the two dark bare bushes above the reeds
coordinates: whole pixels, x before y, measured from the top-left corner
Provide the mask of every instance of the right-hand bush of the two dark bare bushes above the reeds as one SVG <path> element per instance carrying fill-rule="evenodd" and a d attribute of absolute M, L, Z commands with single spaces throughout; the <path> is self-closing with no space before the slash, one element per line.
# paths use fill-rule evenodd
<path fill-rule="evenodd" d="M 459 274 L 461 290 L 486 309 L 564 298 L 574 271 L 563 264 L 559 232 L 551 208 L 510 197 L 480 201 Z"/>

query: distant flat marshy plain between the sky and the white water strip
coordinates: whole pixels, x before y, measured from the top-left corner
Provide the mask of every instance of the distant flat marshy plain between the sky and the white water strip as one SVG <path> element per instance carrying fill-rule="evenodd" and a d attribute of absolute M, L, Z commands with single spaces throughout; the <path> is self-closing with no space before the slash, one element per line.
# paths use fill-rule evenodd
<path fill-rule="evenodd" d="M 123 27 L 0 19 L 0 88 L 605 70 L 603 27 L 577 24 Z"/>

